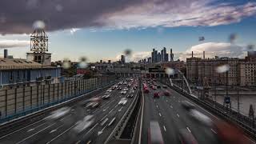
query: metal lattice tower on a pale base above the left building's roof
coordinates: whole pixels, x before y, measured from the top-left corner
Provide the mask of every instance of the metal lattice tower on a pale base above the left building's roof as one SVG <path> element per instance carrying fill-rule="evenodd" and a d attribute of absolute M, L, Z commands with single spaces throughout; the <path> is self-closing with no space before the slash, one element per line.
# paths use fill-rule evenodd
<path fill-rule="evenodd" d="M 50 66 L 51 54 L 48 51 L 48 36 L 45 30 L 35 29 L 30 35 L 30 53 L 26 53 L 26 59 Z"/>

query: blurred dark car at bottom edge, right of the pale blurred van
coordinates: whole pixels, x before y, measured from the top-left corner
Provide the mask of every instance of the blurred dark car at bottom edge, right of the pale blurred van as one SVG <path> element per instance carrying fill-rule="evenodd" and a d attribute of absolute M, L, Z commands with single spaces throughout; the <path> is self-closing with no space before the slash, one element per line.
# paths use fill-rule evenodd
<path fill-rule="evenodd" d="M 178 138 L 180 142 L 184 144 L 198 144 L 197 140 L 194 138 L 194 135 L 186 129 L 179 130 Z"/>

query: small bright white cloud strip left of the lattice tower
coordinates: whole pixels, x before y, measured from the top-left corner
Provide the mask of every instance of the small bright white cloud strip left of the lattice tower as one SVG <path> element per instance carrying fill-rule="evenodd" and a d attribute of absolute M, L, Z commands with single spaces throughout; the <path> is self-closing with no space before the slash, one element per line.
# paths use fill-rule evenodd
<path fill-rule="evenodd" d="M 23 47 L 23 46 L 30 46 L 30 41 L 0 40 L 0 48 L 13 48 L 13 47 Z"/>

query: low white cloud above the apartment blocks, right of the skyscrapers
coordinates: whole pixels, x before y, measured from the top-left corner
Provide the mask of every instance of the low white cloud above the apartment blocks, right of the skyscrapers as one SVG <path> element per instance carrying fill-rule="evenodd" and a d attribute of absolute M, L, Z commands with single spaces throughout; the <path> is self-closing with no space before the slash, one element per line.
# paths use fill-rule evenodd
<path fill-rule="evenodd" d="M 194 53 L 194 57 L 199 58 L 202 58 L 203 51 L 206 52 L 206 58 L 214 58 L 214 56 L 242 58 L 245 56 L 246 47 L 225 42 L 207 42 L 196 46 L 191 46 L 190 49 L 186 50 L 182 54 L 179 54 L 179 58 L 181 60 L 190 58 L 192 51 Z"/>

